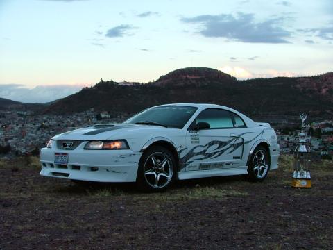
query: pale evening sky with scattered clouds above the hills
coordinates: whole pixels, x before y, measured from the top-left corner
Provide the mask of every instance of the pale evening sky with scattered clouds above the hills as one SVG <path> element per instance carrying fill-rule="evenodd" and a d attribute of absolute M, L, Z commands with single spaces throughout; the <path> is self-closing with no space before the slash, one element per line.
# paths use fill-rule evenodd
<path fill-rule="evenodd" d="M 0 97 L 47 102 L 183 67 L 332 72 L 332 0 L 0 0 Z"/>

